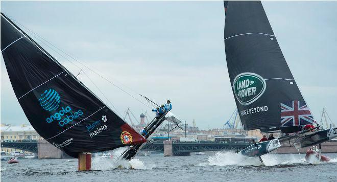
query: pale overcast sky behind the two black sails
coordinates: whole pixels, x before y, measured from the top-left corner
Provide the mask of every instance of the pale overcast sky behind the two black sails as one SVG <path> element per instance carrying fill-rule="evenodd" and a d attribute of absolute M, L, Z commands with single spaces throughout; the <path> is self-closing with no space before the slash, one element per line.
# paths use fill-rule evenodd
<path fill-rule="evenodd" d="M 316 120 L 323 107 L 337 123 L 337 2 L 262 2 L 281 50 Z M 224 7 L 217 2 L 6 2 L 1 11 L 141 99 L 172 101 L 197 126 L 222 128 L 236 108 L 224 49 Z M 27 31 L 26 31 L 27 32 Z M 30 32 L 27 32 L 30 33 Z M 30 35 L 32 35 L 30 33 Z M 74 75 L 70 63 L 41 43 Z M 85 74 L 84 74 L 85 73 Z M 151 110 L 87 69 L 79 75 L 123 115 Z M 132 90 L 131 90 L 131 89 Z M 145 100 L 141 100 L 146 102 Z M 29 123 L 1 57 L 1 122 Z"/>

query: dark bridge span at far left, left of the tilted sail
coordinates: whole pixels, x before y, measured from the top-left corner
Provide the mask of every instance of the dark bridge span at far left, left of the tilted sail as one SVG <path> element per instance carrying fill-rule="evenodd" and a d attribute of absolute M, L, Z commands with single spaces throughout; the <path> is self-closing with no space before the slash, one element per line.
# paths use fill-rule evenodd
<path fill-rule="evenodd" d="M 18 150 L 25 150 L 33 153 L 37 153 L 37 141 L 36 140 L 2 140 L 1 147 L 13 148 Z"/>

